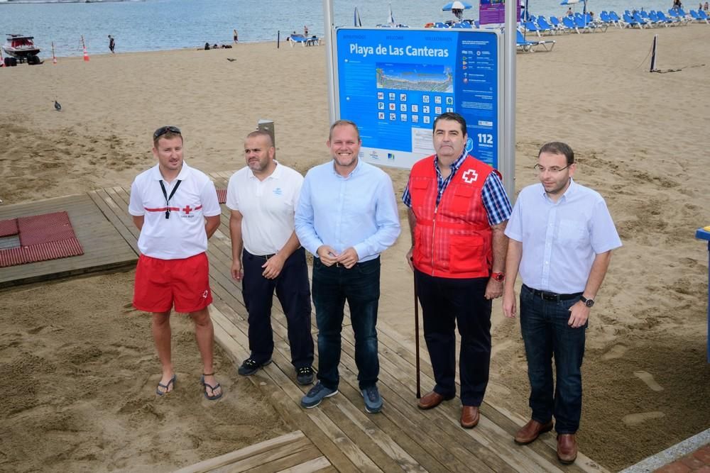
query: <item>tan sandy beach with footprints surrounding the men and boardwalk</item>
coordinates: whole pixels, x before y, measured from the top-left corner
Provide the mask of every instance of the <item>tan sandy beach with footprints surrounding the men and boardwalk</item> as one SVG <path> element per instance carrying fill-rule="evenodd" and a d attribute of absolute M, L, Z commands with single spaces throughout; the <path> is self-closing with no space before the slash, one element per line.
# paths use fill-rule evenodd
<path fill-rule="evenodd" d="M 655 34 L 657 67 L 679 71 L 648 72 Z M 552 52 L 517 56 L 516 189 L 535 182 L 542 143 L 565 141 L 577 182 L 606 198 L 621 235 L 590 318 L 578 435 L 585 455 L 616 471 L 710 427 L 708 252 L 694 239 L 710 224 L 710 26 L 554 39 Z M 213 172 L 242 167 L 244 136 L 271 119 L 278 160 L 305 173 L 329 159 L 324 56 L 260 43 L 0 69 L 4 90 L 16 91 L 0 106 L 1 205 L 128 186 L 153 165 L 151 133 L 165 124 L 182 129 L 190 165 Z M 408 171 L 388 173 L 400 196 Z M 379 318 L 413 346 L 401 204 L 400 216 Z M 178 315 L 178 385 L 157 399 L 150 321 L 131 308 L 132 279 L 0 292 L 0 471 L 170 471 L 297 429 L 221 349 L 226 395 L 204 400 L 192 328 Z M 529 415 L 520 325 L 499 300 L 486 400 Z"/>

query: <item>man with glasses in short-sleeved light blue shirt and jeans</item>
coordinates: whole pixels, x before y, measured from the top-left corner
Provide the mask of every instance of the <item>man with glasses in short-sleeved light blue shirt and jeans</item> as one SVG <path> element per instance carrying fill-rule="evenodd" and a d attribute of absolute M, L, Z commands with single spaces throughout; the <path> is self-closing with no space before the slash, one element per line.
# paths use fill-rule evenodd
<path fill-rule="evenodd" d="M 621 247 L 603 197 L 572 180 L 576 167 L 565 143 L 540 148 L 535 165 L 540 184 L 520 191 L 506 228 L 510 243 L 503 290 L 503 313 L 513 318 L 519 270 L 532 418 L 515 434 L 515 442 L 525 445 L 552 430 L 554 417 L 557 457 L 564 464 L 577 458 L 589 314 L 611 251 Z"/>

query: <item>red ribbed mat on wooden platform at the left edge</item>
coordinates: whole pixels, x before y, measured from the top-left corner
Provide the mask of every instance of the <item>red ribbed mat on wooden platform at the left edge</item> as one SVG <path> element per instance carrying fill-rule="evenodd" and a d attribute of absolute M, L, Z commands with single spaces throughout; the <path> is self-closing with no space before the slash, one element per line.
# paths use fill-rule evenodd
<path fill-rule="evenodd" d="M 9 221 L 0 222 L 0 230 L 5 228 L 6 222 Z M 21 217 L 17 219 L 16 227 L 20 233 L 20 246 L 0 250 L 0 267 L 84 254 L 66 212 Z"/>

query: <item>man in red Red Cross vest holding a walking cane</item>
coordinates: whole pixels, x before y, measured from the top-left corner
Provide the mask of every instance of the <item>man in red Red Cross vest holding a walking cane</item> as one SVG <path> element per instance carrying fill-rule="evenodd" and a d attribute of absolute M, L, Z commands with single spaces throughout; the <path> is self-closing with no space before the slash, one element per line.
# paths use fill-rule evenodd
<path fill-rule="evenodd" d="M 403 201 L 409 207 L 414 271 L 424 311 L 424 338 L 436 385 L 419 401 L 430 409 L 456 396 L 456 335 L 461 335 L 461 426 L 479 423 L 491 361 L 491 305 L 503 294 L 510 201 L 493 167 L 468 155 L 466 121 L 444 113 L 434 121 L 436 154 L 412 167 Z"/>

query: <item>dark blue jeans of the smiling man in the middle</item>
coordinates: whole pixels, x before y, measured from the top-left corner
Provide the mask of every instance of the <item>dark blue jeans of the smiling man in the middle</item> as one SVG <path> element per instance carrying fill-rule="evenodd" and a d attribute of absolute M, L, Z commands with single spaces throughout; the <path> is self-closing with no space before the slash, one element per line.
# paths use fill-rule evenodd
<path fill-rule="evenodd" d="M 380 299 L 380 259 L 350 269 L 327 267 L 313 259 L 313 304 L 318 324 L 318 379 L 328 389 L 340 382 L 341 331 L 345 301 L 355 334 L 355 364 L 360 389 L 374 386 L 380 373 L 377 357 L 377 305 Z"/>

